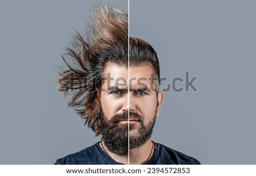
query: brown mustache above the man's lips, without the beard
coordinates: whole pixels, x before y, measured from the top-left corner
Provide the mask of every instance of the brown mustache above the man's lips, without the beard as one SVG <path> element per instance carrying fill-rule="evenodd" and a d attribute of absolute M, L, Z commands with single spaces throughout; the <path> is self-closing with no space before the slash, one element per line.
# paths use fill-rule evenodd
<path fill-rule="evenodd" d="M 142 115 L 139 115 L 138 113 L 135 113 L 134 111 L 124 111 L 123 113 L 114 115 L 110 120 L 109 123 L 117 123 L 119 121 L 128 121 L 128 114 L 130 119 L 142 122 L 143 117 Z"/>

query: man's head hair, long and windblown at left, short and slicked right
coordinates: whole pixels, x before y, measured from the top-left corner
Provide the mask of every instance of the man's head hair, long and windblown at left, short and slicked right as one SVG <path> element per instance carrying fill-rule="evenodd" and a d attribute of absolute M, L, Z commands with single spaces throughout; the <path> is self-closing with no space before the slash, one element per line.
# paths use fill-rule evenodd
<path fill-rule="evenodd" d="M 160 73 L 158 57 L 150 44 L 135 37 L 130 37 L 128 42 L 128 15 L 125 12 L 104 3 L 92 11 L 92 19 L 86 37 L 77 32 L 67 47 L 67 53 L 62 55 L 68 68 L 59 71 L 58 90 L 65 97 L 70 97 L 68 106 L 85 119 L 85 125 L 92 128 L 97 136 L 102 132 L 98 92 L 106 64 L 126 68 L 128 63 L 131 67 L 150 65 L 158 80 Z M 156 86 L 157 91 L 158 88 Z"/>

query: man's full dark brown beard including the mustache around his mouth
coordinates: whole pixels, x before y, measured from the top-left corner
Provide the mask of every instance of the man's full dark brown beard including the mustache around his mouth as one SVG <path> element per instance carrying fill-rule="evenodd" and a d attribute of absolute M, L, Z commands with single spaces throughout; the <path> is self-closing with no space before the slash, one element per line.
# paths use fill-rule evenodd
<path fill-rule="evenodd" d="M 130 139 L 128 130 L 129 128 L 130 130 L 134 128 L 133 124 L 129 124 L 128 128 L 128 123 L 119 123 L 119 121 L 128 120 L 127 111 L 122 114 L 114 115 L 109 121 L 107 121 L 106 117 L 103 115 L 104 120 L 101 121 L 104 144 L 110 152 L 118 154 L 119 156 L 127 156 L 129 149 L 141 147 L 141 145 L 146 143 L 146 141 L 150 139 L 155 125 L 156 111 L 154 117 L 146 126 L 144 126 L 144 119 L 141 115 L 133 111 L 130 111 L 129 115 L 130 119 L 136 119 L 140 123 L 138 130 L 130 136 Z M 128 139 L 130 144 L 129 148 Z"/>

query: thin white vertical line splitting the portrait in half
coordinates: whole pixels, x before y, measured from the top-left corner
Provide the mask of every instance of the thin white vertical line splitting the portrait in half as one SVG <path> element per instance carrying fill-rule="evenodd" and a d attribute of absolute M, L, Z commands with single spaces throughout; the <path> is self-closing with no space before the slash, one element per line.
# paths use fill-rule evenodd
<path fill-rule="evenodd" d="M 130 165 L 130 8 L 129 8 L 129 5 L 130 5 L 130 0 L 128 0 L 128 81 L 127 81 L 127 95 L 128 95 L 128 165 Z"/>

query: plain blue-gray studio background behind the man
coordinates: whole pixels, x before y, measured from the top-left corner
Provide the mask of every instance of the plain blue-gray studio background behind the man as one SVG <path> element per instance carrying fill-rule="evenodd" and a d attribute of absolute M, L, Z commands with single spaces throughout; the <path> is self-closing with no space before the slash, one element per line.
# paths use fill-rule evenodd
<path fill-rule="evenodd" d="M 100 140 L 57 93 L 55 67 L 97 2 L 0 2 L 0 164 L 53 164 Z M 155 48 L 162 77 L 199 76 L 199 92 L 164 92 L 152 139 L 202 164 L 256 164 L 255 7 L 130 0 L 130 36 Z"/>

